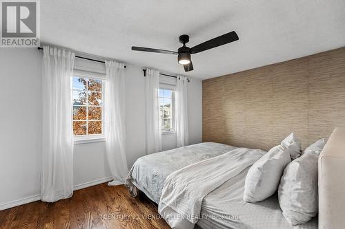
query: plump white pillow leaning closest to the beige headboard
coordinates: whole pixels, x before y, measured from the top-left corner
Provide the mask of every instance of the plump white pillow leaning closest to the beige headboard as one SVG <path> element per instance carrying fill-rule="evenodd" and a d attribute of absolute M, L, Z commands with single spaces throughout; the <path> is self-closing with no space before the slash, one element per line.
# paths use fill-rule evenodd
<path fill-rule="evenodd" d="M 317 215 L 317 162 L 325 144 L 324 139 L 311 144 L 284 170 L 278 198 L 284 217 L 292 225 L 306 223 Z"/>

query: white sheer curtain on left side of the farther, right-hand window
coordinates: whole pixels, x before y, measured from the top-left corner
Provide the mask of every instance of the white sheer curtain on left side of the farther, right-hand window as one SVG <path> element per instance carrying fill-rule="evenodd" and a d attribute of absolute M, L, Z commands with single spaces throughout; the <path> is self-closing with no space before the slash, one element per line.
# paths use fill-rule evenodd
<path fill-rule="evenodd" d="M 146 69 L 146 153 L 161 151 L 161 122 L 159 118 L 159 71 Z"/>

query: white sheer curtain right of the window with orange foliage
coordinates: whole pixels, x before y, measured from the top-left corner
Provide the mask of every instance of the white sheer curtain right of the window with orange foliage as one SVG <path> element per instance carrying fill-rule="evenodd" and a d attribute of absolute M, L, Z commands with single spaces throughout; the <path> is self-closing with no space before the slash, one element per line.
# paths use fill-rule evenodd
<path fill-rule="evenodd" d="M 104 116 L 106 154 L 112 175 L 108 185 L 124 183 L 128 175 L 125 149 L 125 72 L 124 64 L 106 61 Z"/>

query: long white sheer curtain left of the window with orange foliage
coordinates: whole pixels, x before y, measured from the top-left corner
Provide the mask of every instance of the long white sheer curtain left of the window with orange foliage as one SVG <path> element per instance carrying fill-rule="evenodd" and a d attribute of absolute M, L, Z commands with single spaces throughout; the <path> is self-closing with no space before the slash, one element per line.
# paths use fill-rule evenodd
<path fill-rule="evenodd" d="M 71 76 L 75 54 L 43 47 L 43 129 L 41 200 L 54 202 L 73 194 Z"/>

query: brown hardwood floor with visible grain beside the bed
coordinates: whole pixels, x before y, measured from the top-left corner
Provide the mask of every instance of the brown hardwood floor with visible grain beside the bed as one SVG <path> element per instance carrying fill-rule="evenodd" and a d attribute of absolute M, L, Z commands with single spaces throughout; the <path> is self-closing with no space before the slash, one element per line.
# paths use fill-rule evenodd
<path fill-rule="evenodd" d="M 99 184 L 52 204 L 35 201 L 0 211 L 0 228 L 170 228 L 147 198 Z"/>

